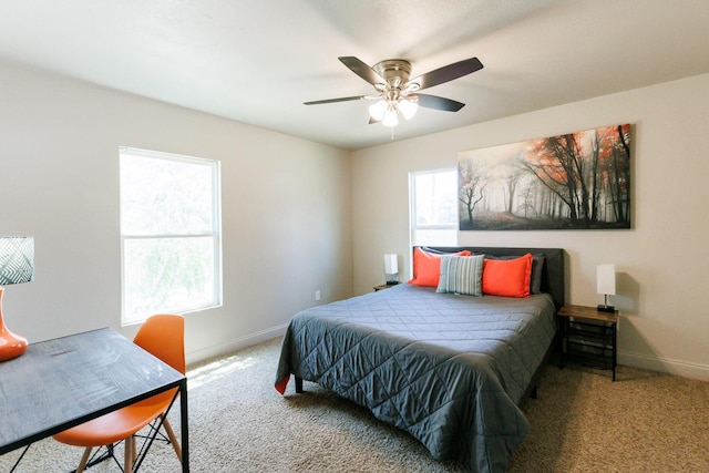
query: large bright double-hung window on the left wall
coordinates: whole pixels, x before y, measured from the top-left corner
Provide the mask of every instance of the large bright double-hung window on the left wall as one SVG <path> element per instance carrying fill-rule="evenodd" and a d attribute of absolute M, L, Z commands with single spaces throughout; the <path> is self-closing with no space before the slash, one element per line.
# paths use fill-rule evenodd
<path fill-rule="evenodd" d="M 120 148 L 122 323 L 222 304 L 219 163 Z"/>

